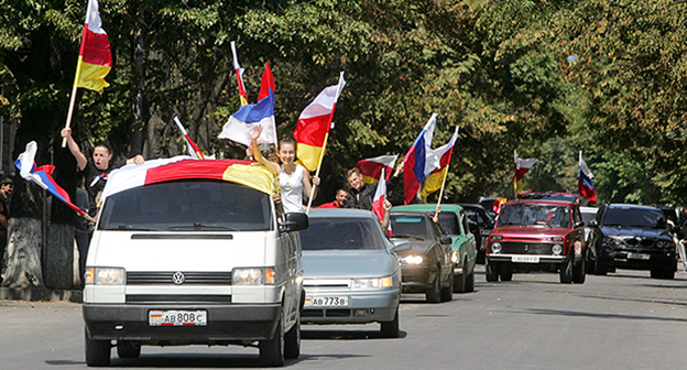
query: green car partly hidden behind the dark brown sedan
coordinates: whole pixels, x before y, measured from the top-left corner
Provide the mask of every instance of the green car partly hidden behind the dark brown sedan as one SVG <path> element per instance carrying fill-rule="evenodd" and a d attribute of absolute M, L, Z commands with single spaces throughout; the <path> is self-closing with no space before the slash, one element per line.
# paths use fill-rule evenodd
<path fill-rule="evenodd" d="M 436 205 L 434 204 L 415 204 L 391 208 L 392 211 L 411 210 L 422 213 L 434 213 Z M 465 293 L 475 291 L 477 242 L 475 240 L 475 235 L 470 232 L 468 227 L 468 217 L 465 210 L 459 205 L 441 205 L 439 224 L 441 224 L 446 233 L 454 240 L 451 248 L 457 253 L 457 259 L 454 261 L 454 292 Z"/>

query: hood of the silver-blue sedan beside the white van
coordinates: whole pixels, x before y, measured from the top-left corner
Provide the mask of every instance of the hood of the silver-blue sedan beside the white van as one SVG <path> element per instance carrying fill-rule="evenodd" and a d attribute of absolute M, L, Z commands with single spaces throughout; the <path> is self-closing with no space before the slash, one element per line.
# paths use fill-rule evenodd
<path fill-rule="evenodd" d="M 385 250 L 303 251 L 305 279 L 382 278 L 397 269 L 395 257 Z"/>

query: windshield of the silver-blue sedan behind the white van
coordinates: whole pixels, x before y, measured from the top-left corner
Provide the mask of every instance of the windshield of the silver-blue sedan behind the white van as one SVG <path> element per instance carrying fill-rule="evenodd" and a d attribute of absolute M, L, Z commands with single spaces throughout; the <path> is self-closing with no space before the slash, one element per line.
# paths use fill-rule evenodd
<path fill-rule="evenodd" d="M 372 218 L 312 217 L 307 230 L 301 231 L 303 250 L 385 249 L 379 221 Z"/>

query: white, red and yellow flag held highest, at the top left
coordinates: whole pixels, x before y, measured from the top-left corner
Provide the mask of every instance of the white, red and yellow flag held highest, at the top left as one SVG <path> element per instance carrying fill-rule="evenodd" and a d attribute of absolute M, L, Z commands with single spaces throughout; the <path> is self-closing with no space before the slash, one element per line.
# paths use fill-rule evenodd
<path fill-rule="evenodd" d="M 112 54 L 107 33 L 102 30 L 102 20 L 98 12 L 98 1 L 88 0 L 86 9 L 86 23 L 81 36 L 76 65 L 75 86 L 100 91 L 110 86 L 105 77 L 112 68 Z"/>

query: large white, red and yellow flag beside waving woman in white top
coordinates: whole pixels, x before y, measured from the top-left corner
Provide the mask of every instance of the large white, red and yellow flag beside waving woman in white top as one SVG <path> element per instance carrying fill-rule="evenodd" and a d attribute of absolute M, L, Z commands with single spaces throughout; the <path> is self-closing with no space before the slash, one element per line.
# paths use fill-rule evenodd
<path fill-rule="evenodd" d="M 294 131 L 294 139 L 298 143 L 296 156 L 308 171 L 315 171 L 319 164 L 334 110 L 344 86 L 346 86 L 346 80 L 341 72 L 339 83 L 321 90 L 298 117 Z"/>

